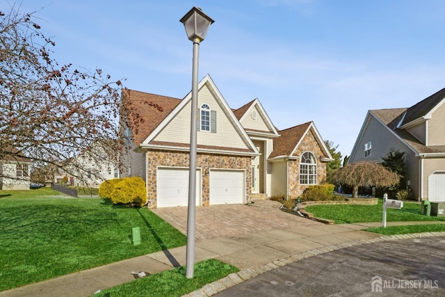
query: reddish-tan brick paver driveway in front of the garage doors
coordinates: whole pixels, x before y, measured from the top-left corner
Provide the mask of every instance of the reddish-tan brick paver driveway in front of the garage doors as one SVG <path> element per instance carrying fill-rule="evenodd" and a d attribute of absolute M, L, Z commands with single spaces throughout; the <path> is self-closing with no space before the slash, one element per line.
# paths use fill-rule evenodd
<path fill-rule="evenodd" d="M 196 207 L 196 239 L 322 225 L 314 220 L 280 211 L 280 205 L 280 202 L 272 200 L 257 200 L 251 205 Z M 165 207 L 152 211 L 183 234 L 187 233 L 187 207 Z"/>

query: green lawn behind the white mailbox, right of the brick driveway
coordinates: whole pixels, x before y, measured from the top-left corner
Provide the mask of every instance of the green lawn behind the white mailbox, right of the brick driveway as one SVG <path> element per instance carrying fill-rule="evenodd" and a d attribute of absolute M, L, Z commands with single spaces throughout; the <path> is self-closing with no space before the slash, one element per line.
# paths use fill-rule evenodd
<path fill-rule="evenodd" d="M 317 218 L 334 220 L 336 224 L 378 222 L 382 220 L 382 200 L 378 205 L 314 205 L 306 210 Z M 387 221 L 445 220 L 445 217 L 423 216 L 420 204 L 403 202 L 403 209 L 387 209 Z"/>

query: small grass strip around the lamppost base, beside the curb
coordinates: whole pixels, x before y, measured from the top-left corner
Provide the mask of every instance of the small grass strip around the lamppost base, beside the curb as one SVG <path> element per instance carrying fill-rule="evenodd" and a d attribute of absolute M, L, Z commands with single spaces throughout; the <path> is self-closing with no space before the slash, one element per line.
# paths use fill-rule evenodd
<path fill-rule="evenodd" d="M 183 266 L 106 289 L 94 296 L 183 296 L 238 271 L 239 269 L 234 266 L 209 259 L 195 264 L 192 279 L 186 278 Z"/>

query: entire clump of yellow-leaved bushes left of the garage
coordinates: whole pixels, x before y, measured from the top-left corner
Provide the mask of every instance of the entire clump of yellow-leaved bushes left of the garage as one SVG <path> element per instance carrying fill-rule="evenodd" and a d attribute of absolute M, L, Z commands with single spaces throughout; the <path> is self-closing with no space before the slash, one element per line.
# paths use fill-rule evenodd
<path fill-rule="evenodd" d="M 114 204 L 131 204 L 141 207 L 147 199 L 147 189 L 142 178 L 126 177 L 103 182 L 99 187 L 99 195 L 110 199 Z"/>

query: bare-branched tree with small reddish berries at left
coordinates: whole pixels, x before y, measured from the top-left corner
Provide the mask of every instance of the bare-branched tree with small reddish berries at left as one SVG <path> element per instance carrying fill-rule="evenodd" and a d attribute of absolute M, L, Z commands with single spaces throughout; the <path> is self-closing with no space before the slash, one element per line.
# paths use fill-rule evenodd
<path fill-rule="evenodd" d="M 100 69 L 59 65 L 55 42 L 35 19 L 15 6 L 0 12 L 0 160 L 26 156 L 44 175 L 79 154 L 116 160 L 121 82 Z"/>

